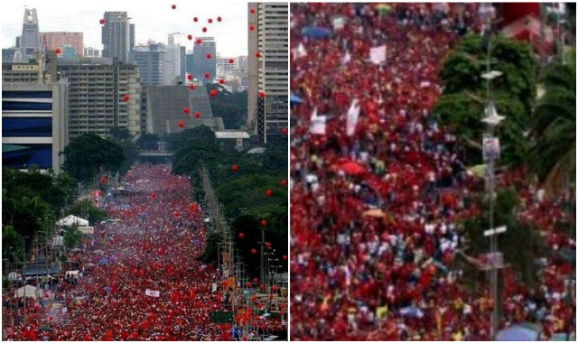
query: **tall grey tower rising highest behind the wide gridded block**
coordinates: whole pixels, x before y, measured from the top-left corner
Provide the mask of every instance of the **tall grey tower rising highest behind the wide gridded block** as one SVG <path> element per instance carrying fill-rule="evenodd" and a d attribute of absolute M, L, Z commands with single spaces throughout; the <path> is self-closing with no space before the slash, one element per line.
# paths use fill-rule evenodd
<path fill-rule="evenodd" d="M 117 58 L 126 63 L 129 59 L 131 44 L 135 43 L 135 28 L 131 27 L 126 12 L 105 12 L 105 24 L 102 26 L 102 56 Z"/>

